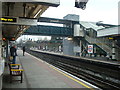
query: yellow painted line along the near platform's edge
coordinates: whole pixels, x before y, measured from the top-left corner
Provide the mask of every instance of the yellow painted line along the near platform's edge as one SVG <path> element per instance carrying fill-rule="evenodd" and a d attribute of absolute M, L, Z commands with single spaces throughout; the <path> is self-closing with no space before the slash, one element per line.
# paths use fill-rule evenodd
<path fill-rule="evenodd" d="M 79 80 L 77 80 L 77 79 L 75 79 L 75 78 L 73 78 L 73 77 L 71 77 L 71 76 L 69 76 L 69 75 L 67 75 L 67 74 L 65 74 L 65 73 L 63 73 L 63 72 L 61 72 L 61 71 L 59 71 L 58 69 L 56 69 L 56 68 L 54 68 L 54 67 L 52 67 L 52 66 L 50 66 L 50 67 L 51 67 L 52 69 L 56 70 L 57 72 L 59 72 L 59 73 L 65 75 L 66 77 L 68 77 L 68 78 L 74 80 L 75 82 L 77 82 L 77 83 L 83 85 L 84 87 L 90 88 L 91 90 L 94 90 L 92 87 L 89 87 L 88 85 L 85 85 L 84 83 L 80 82 Z"/>

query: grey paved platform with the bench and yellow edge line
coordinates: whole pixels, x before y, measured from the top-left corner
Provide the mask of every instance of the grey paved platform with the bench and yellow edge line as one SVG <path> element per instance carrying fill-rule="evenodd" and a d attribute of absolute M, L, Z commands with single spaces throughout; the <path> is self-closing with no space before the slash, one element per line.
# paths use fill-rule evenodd
<path fill-rule="evenodd" d="M 3 90 L 11 88 L 86 88 L 94 90 L 97 88 L 28 53 L 22 56 L 21 50 L 18 50 L 17 63 L 21 64 L 24 69 L 23 83 L 19 81 L 10 83 L 9 71 L 6 67 L 3 75 Z"/>

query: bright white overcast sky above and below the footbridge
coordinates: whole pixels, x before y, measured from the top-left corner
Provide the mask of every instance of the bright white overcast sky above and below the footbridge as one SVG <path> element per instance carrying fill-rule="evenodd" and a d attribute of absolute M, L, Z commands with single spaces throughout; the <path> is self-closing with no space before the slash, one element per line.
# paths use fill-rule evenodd
<path fill-rule="evenodd" d="M 118 25 L 119 1 L 120 0 L 89 0 L 86 9 L 82 10 L 74 7 L 75 0 L 60 0 L 58 7 L 49 7 L 41 16 L 62 19 L 67 14 L 76 14 L 80 16 L 80 21 L 103 21 L 102 23 Z M 22 36 L 20 38 L 24 40 L 29 37 L 34 38 L 34 40 L 45 38 L 43 36 Z M 50 39 L 49 37 L 47 38 Z"/>

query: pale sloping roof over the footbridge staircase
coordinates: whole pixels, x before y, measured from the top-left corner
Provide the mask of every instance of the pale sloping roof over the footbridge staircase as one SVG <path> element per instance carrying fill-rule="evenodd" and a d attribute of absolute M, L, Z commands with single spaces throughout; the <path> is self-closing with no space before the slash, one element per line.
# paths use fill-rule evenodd
<path fill-rule="evenodd" d="M 86 21 L 80 21 L 80 24 L 82 26 L 84 26 L 85 28 L 92 28 L 94 29 L 95 31 L 99 30 L 99 29 L 103 29 L 105 27 L 103 26 L 98 26 L 96 25 L 96 22 L 86 22 Z"/>

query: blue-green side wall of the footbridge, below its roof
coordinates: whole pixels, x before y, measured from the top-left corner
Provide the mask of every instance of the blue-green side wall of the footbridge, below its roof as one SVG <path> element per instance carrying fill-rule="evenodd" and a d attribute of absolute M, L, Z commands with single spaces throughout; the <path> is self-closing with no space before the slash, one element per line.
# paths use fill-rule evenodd
<path fill-rule="evenodd" d="M 73 30 L 68 27 L 56 27 L 56 26 L 46 26 L 38 25 L 32 26 L 27 29 L 24 35 L 44 35 L 44 36 L 72 36 Z"/>

